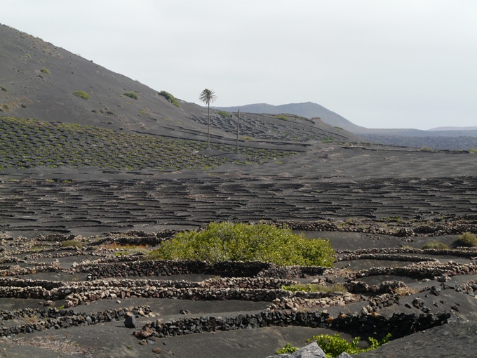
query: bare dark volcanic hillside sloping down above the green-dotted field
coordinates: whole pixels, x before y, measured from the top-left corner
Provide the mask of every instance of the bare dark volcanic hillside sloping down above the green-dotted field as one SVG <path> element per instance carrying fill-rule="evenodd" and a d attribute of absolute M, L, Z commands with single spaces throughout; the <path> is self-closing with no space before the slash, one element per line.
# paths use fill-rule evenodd
<path fill-rule="evenodd" d="M 153 90 L 5 25 L 0 26 L 0 39 L 0 115 L 206 139 L 207 111 L 199 105 L 176 100 L 162 88 Z M 212 138 L 235 138 L 236 116 L 212 112 Z M 252 114 L 243 118 L 241 135 L 248 141 L 358 139 L 298 116 Z"/>

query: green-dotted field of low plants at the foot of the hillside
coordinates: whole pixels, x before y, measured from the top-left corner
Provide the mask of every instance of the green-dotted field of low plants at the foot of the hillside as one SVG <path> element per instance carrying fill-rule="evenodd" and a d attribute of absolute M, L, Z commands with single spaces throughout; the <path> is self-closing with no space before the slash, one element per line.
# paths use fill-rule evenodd
<path fill-rule="evenodd" d="M 293 151 L 243 147 L 245 159 L 205 157 L 199 140 L 128 134 L 95 126 L 0 117 L 0 170 L 35 166 L 95 166 L 158 171 L 203 170 L 222 164 L 261 164 Z M 212 144 L 214 150 L 235 152 L 234 145 Z"/>

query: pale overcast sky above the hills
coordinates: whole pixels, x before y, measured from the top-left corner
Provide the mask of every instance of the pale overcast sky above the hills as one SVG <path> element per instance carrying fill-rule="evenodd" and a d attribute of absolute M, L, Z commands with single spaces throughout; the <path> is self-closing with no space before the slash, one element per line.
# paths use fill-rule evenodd
<path fill-rule="evenodd" d="M 187 102 L 477 126 L 477 1 L 0 0 L 0 23 Z M 1 56 L 1 55 L 0 55 Z"/>

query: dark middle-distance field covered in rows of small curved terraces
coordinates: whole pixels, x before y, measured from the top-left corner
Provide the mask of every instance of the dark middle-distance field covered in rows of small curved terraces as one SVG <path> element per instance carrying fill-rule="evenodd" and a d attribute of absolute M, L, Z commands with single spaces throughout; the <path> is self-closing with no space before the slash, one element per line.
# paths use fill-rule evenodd
<path fill-rule="evenodd" d="M 109 176 L 113 176 L 110 175 Z M 9 180 L 0 187 L 0 230 L 107 232 L 199 227 L 210 221 L 405 222 L 477 218 L 476 178 L 323 183 L 319 178 L 210 176 L 143 180 Z M 352 193 L 352 195 L 350 194 Z M 436 225 L 434 223 L 433 225 Z"/>

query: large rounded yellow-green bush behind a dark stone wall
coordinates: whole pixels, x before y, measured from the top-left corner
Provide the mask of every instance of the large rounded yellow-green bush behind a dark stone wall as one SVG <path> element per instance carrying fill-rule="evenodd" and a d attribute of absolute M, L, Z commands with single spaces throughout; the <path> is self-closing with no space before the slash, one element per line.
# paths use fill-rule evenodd
<path fill-rule="evenodd" d="M 149 254 L 159 260 L 263 261 L 276 265 L 331 267 L 329 240 L 306 239 L 271 225 L 210 223 L 201 232 L 180 232 Z"/>

